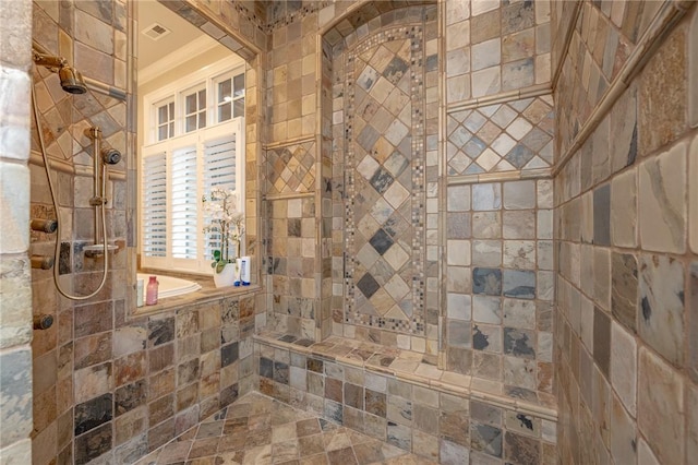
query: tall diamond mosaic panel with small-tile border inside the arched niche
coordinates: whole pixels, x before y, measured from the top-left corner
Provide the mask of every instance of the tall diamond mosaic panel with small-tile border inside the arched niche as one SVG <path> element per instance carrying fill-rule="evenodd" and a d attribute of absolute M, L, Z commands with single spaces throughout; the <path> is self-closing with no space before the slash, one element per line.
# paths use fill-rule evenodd
<path fill-rule="evenodd" d="M 346 57 L 346 320 L 423 334 L 423 32 L 386 29 Z"/>

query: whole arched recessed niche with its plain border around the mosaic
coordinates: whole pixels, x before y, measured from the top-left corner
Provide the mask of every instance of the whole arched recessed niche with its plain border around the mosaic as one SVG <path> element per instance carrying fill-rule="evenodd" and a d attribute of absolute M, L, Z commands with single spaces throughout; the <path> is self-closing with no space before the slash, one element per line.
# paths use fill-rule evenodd
<path fill-rule="evenodd" d="M 433 357 L 438 306 L 428 281 L 437 278 L 438 249 L 429 247 L 437 223 L 428 214 L 437 212 L 426 189 L 437 179 L 437 127 L 426 120 L 438 107 L 426 99 L 437 93 L 435 20 L 436 7 L 378 16 L 374 32 L 337 41 L 332 63 L 333 133 L 342 134 L 332 160 L 334 226 L 344 231 L 335 275 L 345 296 L 333 333 Z"/>

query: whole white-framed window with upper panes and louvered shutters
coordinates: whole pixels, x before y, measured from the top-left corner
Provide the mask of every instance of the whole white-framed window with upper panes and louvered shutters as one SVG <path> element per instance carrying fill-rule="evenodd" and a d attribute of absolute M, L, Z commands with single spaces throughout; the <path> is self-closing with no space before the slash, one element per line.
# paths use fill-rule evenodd
<path fill-rule="evenodd" d="M 202 196 L 231 189 L 244 206 L 244 70 L 212 65 L 144 97 L 151 122 L 141 147 L 141 265 L 210 273 Z M 201 73 L 200 73 L 201 74 Z M 154 103 L 154 104 L 153 104 Z"/>

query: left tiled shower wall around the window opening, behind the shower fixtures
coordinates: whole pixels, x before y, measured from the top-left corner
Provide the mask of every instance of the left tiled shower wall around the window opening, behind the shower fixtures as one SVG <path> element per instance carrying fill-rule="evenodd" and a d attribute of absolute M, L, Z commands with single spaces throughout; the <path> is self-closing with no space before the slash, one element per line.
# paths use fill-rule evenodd
<path fill-rule="evenodd" d="M 86 78 L 130 91 L 124 63 L 127 58 L 133 59 L 127 57 L 127 10 L 133 5 L 123 1 L 37 3 L 34 38 L 49 51 L 64 56 Z M 254 253 L 258 217 L 257 61 L 250 48 L 191 7 L 172 7 L 249 59 L 246 240 L 248 251 Z M 251 25 L 246 16 L 236 13 L 236 28 Z M 265 36 L 261 34 L 258 38 Z M 124 102 L 92 92 L 70 96 L 60 90 L 55 74 L 40 69 L 37 75 L 43 79 L 37 80 L 37 102 L 47 152 L 59 162 L 59 169 L 51 171 L 58 184 L 64 242 L 57 265 L 63 288 L 84 295 L 98 285 L 104 263 L 81 253 L 93 238 L 92 208 L 87 204 L 92 195 L 92 141 L 84 130 L 99 126 L 105 144 L 120 150 L 129 166 L 134 166 L 135 140 L 128 132 L 128 124 L 134 122 L 135 108 L 128 112 Z M 33 148 L 38 151 L 35 133 L 33 138 Z M 214 300 L 152 318 L 130 318 L 132 305 L 128 296 L 132 282 L 127 270 L 132 270 L 133 264 L 129 259 L 134 257 L 135 224 L 127 203 L 133 202 L 135 191 L 127 193 L 123 165 L 122 162 L 112 170 L 121 172 L 108 192 L 112 208 L 107 229 L 120 250 L 110 255 L 105 289 L 88 303 L 74 303 L 58 296 L 51 272 L 33 272 L 34 312 L 52 314 L 57 320 L 50 330 L 35 332 L 33 344 L 33 449 L 37 464 L 55 460 L 86 463 L 98 456 L 132 462 L 234 401 L 240 390 L 253 389 L 251 382 L 245 383 L 244 374 L 240 375 L 245 369 L 239 366 L 245 362 L 239 359 L 252 353 L 250 336 L 257 319 L 255 297 Z M 32 215 L 52 217 L 43 169 L 31 168 Z M 128 176 L 135 176 L 135 170 L 131 169 Z M 32 240 L 33 253 L 52 254 L 52 237 L 33 234 Z M 251 373 L 251 361 L 246 363 L 246 372 Z"/>

